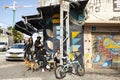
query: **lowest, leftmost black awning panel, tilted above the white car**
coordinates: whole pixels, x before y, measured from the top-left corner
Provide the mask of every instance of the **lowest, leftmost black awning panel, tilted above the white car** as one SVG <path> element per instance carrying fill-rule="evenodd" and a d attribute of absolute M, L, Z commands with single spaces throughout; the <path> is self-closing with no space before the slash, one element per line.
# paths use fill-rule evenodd
<path fill-rule="evenodd" d="M 15 24 L 15 29 L 29 36 L 32 36 L 32 34 L 36 32 L 36 30 L 29 23 L 24 24 L 23 21 L 17 22 Z"/>

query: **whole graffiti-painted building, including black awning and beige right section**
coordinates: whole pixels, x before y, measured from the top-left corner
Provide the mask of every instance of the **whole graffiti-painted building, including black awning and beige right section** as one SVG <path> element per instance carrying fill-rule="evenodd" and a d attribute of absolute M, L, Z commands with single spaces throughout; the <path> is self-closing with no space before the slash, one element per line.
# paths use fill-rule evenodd
<path fill-rule="evenodd" d="M 120 63 L 120 0 L 71 0 L 69 12 L 70 58 L 73 51 L 84 56 L 86 68 L 116 68 Z M 86 5 L 87 4 L 87 5 Z M 65 6 L 64 6 L 65 7 Z M 43 30 L 44 45 L 55 53 L 60 48 L 60 0 L 38 0 L 39 14 L 24 16 L 27 24 L 17 22 L 16 29 L 28 35 Z M 66 15 L 66 12 L 63 13 Z M 63 16 L 63 39 L 67 40 Z M 67 18 L 66 18 L 67 17 Z M 84 23 L 82 23 L 84 22 Z M 68 24 L 68 23 L 67 23 Z M 81 25 L 82 24 L 82 25 Z M 83 25 L 84 24 L 84 25 Z M 29 28 L 26 29 L 25 26 Z M 65 41 L 63 41 L 65 42 Z M 66 45 L 67 42 L 65 42 Z M 64 49 L 66 46 L 62 45 Z"/>

